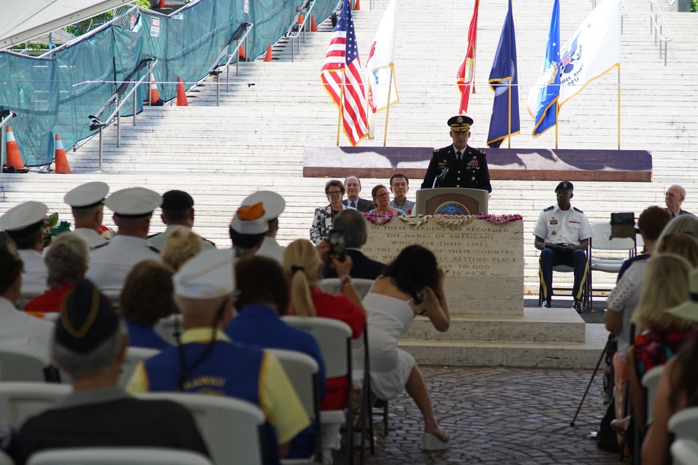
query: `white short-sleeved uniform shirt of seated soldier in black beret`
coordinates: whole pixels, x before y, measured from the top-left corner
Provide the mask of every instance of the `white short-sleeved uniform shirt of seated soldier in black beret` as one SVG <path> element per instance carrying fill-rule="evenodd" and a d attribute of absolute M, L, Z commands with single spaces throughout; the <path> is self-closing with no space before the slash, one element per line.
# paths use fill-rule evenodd
<path fill-rule="evenodd" d="M 540 212 L 538 222 L 533 229 L 533 235 L 545 242 L 554 244 L 570 243 L 579 245 L 584 239 L 594 235 L 591 224 L 581 210 L 570 206 L 567 210 L 560 210 L 555 204 Z"/>

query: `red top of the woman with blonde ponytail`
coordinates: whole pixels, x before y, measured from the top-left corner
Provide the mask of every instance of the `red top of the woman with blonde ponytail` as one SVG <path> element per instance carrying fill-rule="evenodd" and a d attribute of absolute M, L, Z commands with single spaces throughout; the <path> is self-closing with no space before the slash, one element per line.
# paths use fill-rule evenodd
<path fill-rule="evenodd" d="M 332 318 L 347 323 L 351 328 L 352 338 L 357 339 L 364 333 L 366 314 L 349 300 L 347 296 L 333 296 L 323 292 L 318 286 L 311 286 L 310 295 L 318 317 Z M 341 410 L 346 407 L 346 391 L 349 381 L 346 377 L 327 379 L 327 394 L 322 402 L 322 410 Z"/>

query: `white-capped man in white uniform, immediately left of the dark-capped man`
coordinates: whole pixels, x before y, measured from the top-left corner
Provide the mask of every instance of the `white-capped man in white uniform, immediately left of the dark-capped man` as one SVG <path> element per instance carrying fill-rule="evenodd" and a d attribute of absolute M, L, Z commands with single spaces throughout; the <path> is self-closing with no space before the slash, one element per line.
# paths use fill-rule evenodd
<path fill-rule="evenodd" d="M 126 275 L 139 261 L 161 261 L 158 250 L 146 241 L 153 211 L 163 199 L 157 192 L 128 188 L 107 197 L 119 234 L 90 251 L 88 280 L 100 289 L 121 289 Z"/>

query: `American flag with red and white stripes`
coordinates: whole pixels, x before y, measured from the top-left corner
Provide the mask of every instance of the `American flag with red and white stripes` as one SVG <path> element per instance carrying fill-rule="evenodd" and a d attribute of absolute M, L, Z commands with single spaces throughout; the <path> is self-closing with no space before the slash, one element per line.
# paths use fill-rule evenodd
<path fill-rule="evenodd" d="M 342 3 L 342 12 L 320 70 L 320 80 L 334 105 L 341 110 L 344 132 L 352 146 L 355 146 L 366 137 L 369 128 L 366 122 L 366 94 L 359 47 L 349 0 Z"/>

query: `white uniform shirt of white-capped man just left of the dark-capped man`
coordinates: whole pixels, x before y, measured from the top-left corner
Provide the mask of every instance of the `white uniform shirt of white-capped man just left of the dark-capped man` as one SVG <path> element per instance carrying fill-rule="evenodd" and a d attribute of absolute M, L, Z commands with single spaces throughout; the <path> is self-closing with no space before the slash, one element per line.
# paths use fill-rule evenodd
<path fill-rule="evenodd" d="M 105 245 L 90 250 L 85 277 L 100 289 L 121 289 L 131 268 L 144 260 L 161 262 L 160 254 L 145 239 L 117 234 Z"/>

